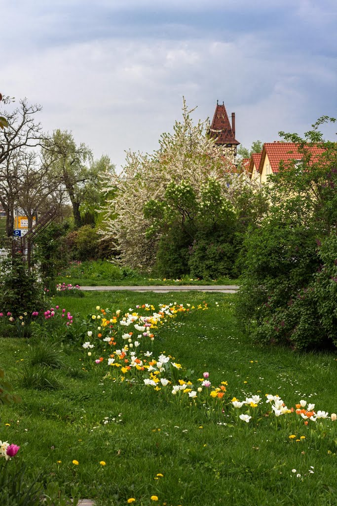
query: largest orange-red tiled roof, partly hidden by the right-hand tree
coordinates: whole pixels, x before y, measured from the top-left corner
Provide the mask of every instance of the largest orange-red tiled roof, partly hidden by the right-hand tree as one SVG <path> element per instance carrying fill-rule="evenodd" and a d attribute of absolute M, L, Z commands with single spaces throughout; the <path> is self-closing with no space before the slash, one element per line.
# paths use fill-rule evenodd
<path fill-rule="evenodd" d="M 313 155 L 320 155 L 324 152 L 324 149 L 316 146 L 308 147 L 308 150 Z M 301 160 L 303 158 L 303 154 L 299 151 L 299 144 L 295 144 L 293 142 L 279 142 L 279 141 L 266 142 L 262 148 L 259 163 L 259 172 L 262 171 L 266 154 L 268 155 L 268 160 L 273 173 L 278 172 L 281 160 L 290 161 L 294 159 Z"/>

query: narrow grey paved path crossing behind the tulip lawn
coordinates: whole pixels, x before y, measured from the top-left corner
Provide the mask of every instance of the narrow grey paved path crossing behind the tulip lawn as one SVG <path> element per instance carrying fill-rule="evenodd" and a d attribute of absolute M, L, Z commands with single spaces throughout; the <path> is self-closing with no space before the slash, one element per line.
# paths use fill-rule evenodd
<path fill-rule="evenodd" d="M 236 285 L 166 285 L 166 286 L 81 286 L 85 291 L 155 291 L 167 293 L 169 291 L 214 291 L 221 293 L 235 293 L 238 290 Z"/>

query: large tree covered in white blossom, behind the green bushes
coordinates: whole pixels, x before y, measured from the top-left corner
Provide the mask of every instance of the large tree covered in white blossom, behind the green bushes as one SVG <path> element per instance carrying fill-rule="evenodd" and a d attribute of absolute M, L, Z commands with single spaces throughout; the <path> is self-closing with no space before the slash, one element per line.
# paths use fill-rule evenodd
<path fill-rule="evenodd" d="M 152 219 L 144 215 L 149 199 L 164 200 L 170 184 L 185 181 L 200 200 L 209 178 L 219 182 L 221 194 L 231 201 L 235 188 L 244 184 L 233 173 L 231 159 L 216 149 L 214 139 L 207 135 L 208 121 L 196 124 L 183 100 L 182 121 L 176 121 L 173 133 L 165 133 L 159 149 L 153 154 L 128 152 L 120 175 L 105 175 L 105 190 L 113 194 L 102 212 L 106 218 L 102 232 L 120 249 L 121 261 L 134 268 L 149 268 L 156 259 L 161 231 L 152 235 L 147 230 Z"/>

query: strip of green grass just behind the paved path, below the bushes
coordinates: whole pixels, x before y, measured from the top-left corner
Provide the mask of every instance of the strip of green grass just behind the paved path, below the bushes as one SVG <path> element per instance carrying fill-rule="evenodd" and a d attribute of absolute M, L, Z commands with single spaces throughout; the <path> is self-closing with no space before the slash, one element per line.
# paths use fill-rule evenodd
<path fill-rule="evenodd" d="M 181 279 L 153 278 L 133 271 L 132 269 L 119 269 L 108 261 L 72 262 L 62 270 L 58 276 L 58 283 L 71 283 L 80 286 L 170 286 L 170 285 L 219 285 L 237 284 L 237 279 L 222 277 L 219 279 L 192 279 L 183 276 Z"/>

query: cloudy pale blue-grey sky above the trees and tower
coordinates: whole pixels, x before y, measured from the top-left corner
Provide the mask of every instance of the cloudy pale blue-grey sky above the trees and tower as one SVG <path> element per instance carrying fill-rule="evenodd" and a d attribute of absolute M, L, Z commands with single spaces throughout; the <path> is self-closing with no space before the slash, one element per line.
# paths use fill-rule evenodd
<path fill-rule="evenodd" d="M 183 96 L 196 119 L 224 101 L 246 147 L 337 117 L 335 0 L 0 0 L 0 13 L 0 92 L 118 169 L 125 150 L 158 148 Z"/>

